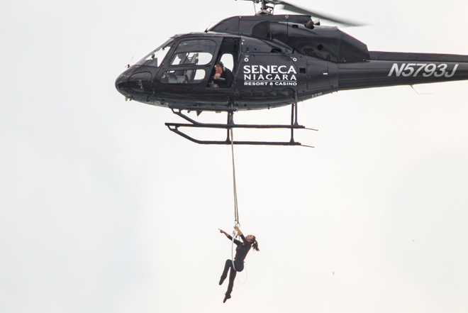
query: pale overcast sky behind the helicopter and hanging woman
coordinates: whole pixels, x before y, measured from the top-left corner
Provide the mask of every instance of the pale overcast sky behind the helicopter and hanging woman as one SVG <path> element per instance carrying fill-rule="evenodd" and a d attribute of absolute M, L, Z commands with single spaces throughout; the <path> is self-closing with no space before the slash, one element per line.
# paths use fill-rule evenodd
<path fill-rule="evenodd" d="M 468 54 L 466 1 L 294 4 L 369 24 L 342 28 L 369 50 Z M 319 131 L 296 138 L 316 148 L 236 146 L 241 229 L 261 251 L 223 304 L 230 147 L 170 133 L 177 116 L 124 101 L 114 82 L 169 36 L 252 12 L 228 0 L 2 5 L 1 312 L 468 311 L 468 82 L 326 95 L 299 104 Z M 289 111 L 236 121 L 287 123 Z"/>

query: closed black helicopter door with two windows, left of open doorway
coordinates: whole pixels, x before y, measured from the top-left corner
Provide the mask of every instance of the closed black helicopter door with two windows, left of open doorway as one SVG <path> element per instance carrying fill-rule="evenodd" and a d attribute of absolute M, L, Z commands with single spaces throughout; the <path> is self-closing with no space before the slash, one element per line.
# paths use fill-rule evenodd
<path fill-rule="evenodd" d="M 207 84 L 218 38 L 180 40 L 158 75 L 162 84 Z M 194 86 L 195 87 L 195 86 Z"/>

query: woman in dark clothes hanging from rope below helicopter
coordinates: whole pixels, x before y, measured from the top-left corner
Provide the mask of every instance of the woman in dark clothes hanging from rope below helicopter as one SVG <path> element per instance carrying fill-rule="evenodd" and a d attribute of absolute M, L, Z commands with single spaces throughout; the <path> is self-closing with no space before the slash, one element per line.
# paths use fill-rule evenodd
<path fill-rule="evenodd" d="M 234 260 L 226 260 L 223 275 L 221 275 L 221 279 L 219 280 L 219 285 L 223 285 L 224 280 L 228 277 L 228 270 L 230 269 L 228 290 L 225 293 L 223 303 L 226 302 L 226 300 L 230 299 L 230 293 L 233 291 L 235 275 L 237 274 L 237 272 L 242 272 L 244 270 L 244 259 L 247 256 L 247 253 L 250 251 L 250 248 L 253 246 L 255 251 L 260 251 L 255 236 L 249 235 L 245 237 L 238 226 L 234 226 L 234 228 L 238 231 L 238 235 L 240 236 L 240 238 L 242 238 L 242 242 L 234 240 L 234 243 L 237 245 L 237 247 L 235 248 L 235 258 Z M 225 236 L 228 237 L 229 240 L 233 240 L 233 237 L 231 237 L 225 231 L 221 231 L 221 229 L 219 231 L 221 232 L 221 234 L 225 234 Z"/>

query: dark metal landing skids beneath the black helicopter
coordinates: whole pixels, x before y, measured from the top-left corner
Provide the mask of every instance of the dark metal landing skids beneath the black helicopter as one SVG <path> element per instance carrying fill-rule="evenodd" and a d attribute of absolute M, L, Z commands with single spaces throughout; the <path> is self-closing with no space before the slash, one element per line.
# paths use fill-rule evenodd
<path fill-rule="evenodd" d="M 189 141 L 193 141 L 194 143 L 199 143 L 203 145 L 302 145 L 301 143 L 294 141 L 294 129 L 299 129 L 299 128 L 305 128 L 309 129 L 312 131 L 316 131 L 316 129 L 312 128 L 306 128 L 305 126 L 299 125 L 297 123 L 297 105 L 292 104 L 292 109 L 291 109 L 291 125 L 257 125 L 257 124 L 235 124 L 233 121 L 234 113 L 237 111 L 237 109 L 232 109 L 232 108 L 226 108 L 226 109 L 203 109 L 203 111 L 225 111 L 228 112 L 228 121 L 227 123 L 200 123 L 199 121 L 195 121 L 194 119 L 191 119 L 189 116 L 186 116 L 185 114 L 182 113 L 183 110 L 186 110 L 188 112 L 190 111 L 199 111 L 199 107 L 184 107 L 184 108 L 178 108 L 174 106 L 169 106 L 169 108 L 172 110 L 172 113 L 176 114 L 177 116 L 182 117 L 182 119 L 185 119 L 186 121 L 189 121 L 190 123 L 165 123 L 167 128 L 169 128 L 169 131 L 173 131 L 174 133 L 177 133 L 177 135 L 182 136 L 186 139 L 189 139 Z M 186 133 L 183 133 L 182 131 L 179 130 L 179 128 L 182 127 L 196 127 L 196 128 L 225 128 L 227 130 L 227 137 L 225 141 L 201 141 L 198 139 L 195 139 Z M 231 142 L 230 139 L 230 129 L 231 128 L 284 128 L 284 129 L 291 129 L 291 139 L 290 141 L 233 141 Z M 313 148 L 311 145 L 302 145 L 305 147 Z"/>

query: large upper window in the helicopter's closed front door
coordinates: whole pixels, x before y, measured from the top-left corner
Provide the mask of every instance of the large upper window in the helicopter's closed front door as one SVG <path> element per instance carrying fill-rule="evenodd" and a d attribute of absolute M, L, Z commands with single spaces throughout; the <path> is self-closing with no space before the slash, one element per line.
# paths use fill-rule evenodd
<path fill-rule="evenodd" d="M 184 40 L 177 45 L 169 65 L 207 65 L 213 59 L 215 50 L 213 40 Z"/>

